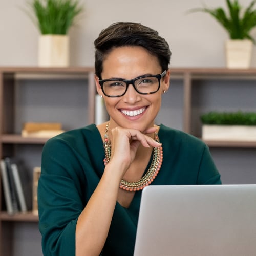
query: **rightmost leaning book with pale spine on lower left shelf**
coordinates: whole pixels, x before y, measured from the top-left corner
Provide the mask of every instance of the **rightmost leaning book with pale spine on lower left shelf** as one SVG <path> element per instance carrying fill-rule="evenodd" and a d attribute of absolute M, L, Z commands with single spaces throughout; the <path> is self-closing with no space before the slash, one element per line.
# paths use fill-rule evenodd
<path fill-rule="evenodd" d="M 11 164 L 11 169 L 12 169 L 12 175 L 14 178 L 14 183 L 15 183 L 16 193 L 17 193 L 17 197 L 18 197 L 18 203 L 20 206 L 20 211 L 26 212 L 28 209 L 27 209 L 27 205 L 26 205 L 26 201 L 25 201 L 22 182 L 19 177 L 18 167 L 15 163 L 13 163 L 13 164 Z"/>

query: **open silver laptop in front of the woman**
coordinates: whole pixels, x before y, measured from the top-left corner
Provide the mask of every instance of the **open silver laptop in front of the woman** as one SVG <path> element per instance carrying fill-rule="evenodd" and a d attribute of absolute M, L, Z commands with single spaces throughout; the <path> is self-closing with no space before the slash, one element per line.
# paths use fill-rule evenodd
<path fill-rule="evenodd" d="M 143 189 L 134 256 L 242 255 L 256 255 L 256 185 Z"/>

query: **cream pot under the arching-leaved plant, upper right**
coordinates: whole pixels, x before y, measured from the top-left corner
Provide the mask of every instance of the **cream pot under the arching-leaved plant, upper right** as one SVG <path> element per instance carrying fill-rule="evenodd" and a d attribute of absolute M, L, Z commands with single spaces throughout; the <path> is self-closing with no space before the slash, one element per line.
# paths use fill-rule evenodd
<path fill-rule="evenodd" d="M 226 41 L 226 65 L 230 69 L 247 69 L 251 64 L 251 40 Z"/>

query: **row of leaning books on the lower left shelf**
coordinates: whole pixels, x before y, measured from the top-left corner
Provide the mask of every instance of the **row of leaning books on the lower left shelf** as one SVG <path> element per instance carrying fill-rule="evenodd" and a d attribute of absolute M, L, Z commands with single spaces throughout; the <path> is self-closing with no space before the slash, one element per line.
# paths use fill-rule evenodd
<path fill-rule="evenodd" d="M 27 212 L 27 204 L 17 165 L 12 163 L 10 158 L 5 158 L 0 160 L 0 169 L 8 214 Z"/>

